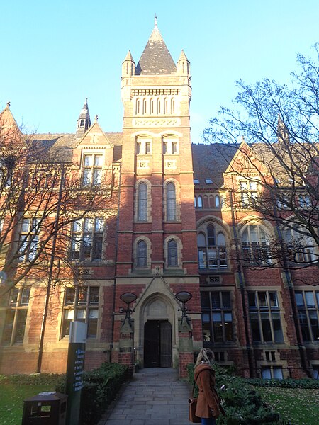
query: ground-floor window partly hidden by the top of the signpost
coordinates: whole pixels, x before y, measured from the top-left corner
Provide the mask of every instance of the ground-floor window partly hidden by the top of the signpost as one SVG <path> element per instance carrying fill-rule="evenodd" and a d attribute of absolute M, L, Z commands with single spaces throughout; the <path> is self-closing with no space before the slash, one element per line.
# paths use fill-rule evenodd
<path fill-rule="evenodd" d="M 61 338 L 69 335 L 70 323 L 74 320 L 87 324 L 87 338 L 96 338 L 99 319 L 99 286 L 65 288 Z"/>

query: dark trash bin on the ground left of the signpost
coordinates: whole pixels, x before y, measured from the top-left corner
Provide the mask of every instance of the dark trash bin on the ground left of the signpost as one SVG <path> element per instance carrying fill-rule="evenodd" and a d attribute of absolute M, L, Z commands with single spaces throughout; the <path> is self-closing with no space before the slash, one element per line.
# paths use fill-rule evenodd
<path fill-rule="evenodd" d="M 23 401 L 21 425 L 65 425 L 66 416 L 66 394 L 40 392 Z"/>

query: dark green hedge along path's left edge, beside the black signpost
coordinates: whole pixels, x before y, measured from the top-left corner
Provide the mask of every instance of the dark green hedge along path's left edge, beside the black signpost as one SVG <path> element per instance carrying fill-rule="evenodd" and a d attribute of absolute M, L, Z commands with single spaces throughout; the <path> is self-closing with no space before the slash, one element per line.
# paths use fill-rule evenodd
<path fill-rule="evenodd" d="M 84 372 L 81 425 L 96 424 L 127 379 L 128 367 L 118 363 L 103 363 L 100 368 Z M 65 378 L 59 382 L 55 390 L 65 392 Z"/>

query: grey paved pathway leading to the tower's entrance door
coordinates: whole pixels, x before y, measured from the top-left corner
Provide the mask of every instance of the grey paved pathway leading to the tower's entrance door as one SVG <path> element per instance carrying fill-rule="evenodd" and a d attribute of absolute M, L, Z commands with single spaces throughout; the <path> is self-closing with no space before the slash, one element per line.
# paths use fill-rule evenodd
<path fill-rule="evenodd" d="M 189 425 L 189 385 L 172 368 L 144 368 L 120 392 L 99 425 Z"/>

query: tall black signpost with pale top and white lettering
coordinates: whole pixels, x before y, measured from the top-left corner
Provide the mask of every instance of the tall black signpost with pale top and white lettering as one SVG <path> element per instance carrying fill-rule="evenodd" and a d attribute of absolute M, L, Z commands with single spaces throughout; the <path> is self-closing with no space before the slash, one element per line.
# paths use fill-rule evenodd
<path fill-rule="evenodd" d="M 81 390 L 83 387 L 84 353 L 86 324 L 71 322 L 69 331 L 69 351 L 67 354 L 67 425 L 79 424 Z"/>

